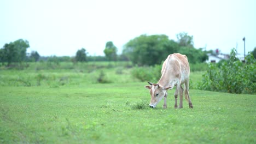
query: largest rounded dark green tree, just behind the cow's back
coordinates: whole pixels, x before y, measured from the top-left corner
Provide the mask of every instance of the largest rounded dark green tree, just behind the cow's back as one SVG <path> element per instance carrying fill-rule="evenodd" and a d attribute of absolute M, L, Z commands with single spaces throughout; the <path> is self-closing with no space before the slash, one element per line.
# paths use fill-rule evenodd
<path fill-rule="evenodd" d="M 123 54 L 133 64 L 160 64 L 170 53 L 177 52 L 178 44 L 167 35 L 140 35 L 125 44 Z"/>

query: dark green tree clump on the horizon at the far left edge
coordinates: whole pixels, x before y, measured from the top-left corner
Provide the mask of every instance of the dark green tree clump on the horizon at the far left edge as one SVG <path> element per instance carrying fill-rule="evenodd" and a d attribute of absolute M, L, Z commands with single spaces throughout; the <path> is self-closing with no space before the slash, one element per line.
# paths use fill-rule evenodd
<path fill-rule="evenodd" d="M 28 47 L 30 47 L 28 41 L 23 39 L 5 44 L 0 51 L 0 60 L 7 62 L 7 66 L 10 66 L 13 62 L 24 62 Z"/>

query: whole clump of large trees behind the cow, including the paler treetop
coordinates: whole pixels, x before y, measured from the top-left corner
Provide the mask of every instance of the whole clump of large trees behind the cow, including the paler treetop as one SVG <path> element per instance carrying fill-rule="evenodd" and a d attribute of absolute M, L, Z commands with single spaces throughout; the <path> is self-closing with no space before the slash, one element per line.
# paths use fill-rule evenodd
<path fill-rule="evenodd" d="M 126 43 L 123 54 L 139 66 L 160 64 L 171 53 L 186 55 L 190 63 L 202 63 L 208 59 L 205 51 L 193 47 L 193 36 L 179 33 L 177 38 L 178 43 L 169 40 L 167 35 L 141 35 Z"/>

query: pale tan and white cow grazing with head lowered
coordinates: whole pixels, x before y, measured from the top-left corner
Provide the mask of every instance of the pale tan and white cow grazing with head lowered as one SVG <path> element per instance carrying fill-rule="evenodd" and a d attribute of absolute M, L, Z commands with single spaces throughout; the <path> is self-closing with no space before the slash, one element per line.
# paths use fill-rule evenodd
<path fill-rule="evenodd" d="M 183 88 L 182 84 L 185 84 L 185 99 L 189 102 L 189 108 L 193 108 L 189 97 L 189 74 L 190 68 L 188 63 L 188 58 L 185 55 L 181 55 L 180 53 L 173 53 L 169 55 L 165 62 L 162 64 L 161 70 L 161 78 L 158 83 L 148 82 L 149 86 L 145 86 L 145 88 L 150 89 L 151 100 L 149 107 L 156 107 L 159 101 L 162 98 L 164 99 L 164 105 L 162 106 L 166 109 L 166 98 L 167 98 L 167 90 L 172 89 L 176 86 L 176 91 L 174 93 L 175 97 L 175 105 L 174 108 L 177 109 L 177 98 L 179 93 L 179 108 L 182 108 L 182 100 L 183 100 Z"/>

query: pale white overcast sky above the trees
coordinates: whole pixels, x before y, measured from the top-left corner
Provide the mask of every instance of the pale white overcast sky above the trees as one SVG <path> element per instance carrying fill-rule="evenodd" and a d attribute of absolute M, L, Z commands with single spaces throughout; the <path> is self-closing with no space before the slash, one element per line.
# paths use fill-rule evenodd
<path fill-rule="evenodd" d="M 74 56 L 84 47 L 89 55 L 104 55 L 107 41 L 119 53 L 141 34 L 194 36 L 196 48 L 232 47 L 243 54 L 256 46 L 256 1 L 139 1 L 139 0 L 1 0 L 0 47 L 26 39 L 41 56 Z"/>

